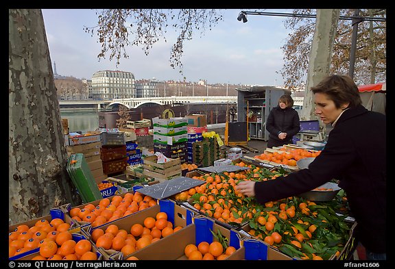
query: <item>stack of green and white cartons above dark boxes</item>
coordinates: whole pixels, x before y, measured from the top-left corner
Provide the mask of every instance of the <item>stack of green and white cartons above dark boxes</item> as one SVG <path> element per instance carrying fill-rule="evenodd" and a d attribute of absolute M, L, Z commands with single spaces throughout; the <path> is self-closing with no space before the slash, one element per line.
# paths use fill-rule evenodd
<path fill-rule="evenodd" d="M 153 118 L 154 152 L 163 153 L 171 159 L 187 162 L 187 118 Z"/>

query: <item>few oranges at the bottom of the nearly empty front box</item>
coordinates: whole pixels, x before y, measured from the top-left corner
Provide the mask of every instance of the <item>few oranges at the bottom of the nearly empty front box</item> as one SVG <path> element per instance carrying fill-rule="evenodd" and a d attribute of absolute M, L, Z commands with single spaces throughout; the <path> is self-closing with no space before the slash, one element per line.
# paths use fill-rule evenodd
<path fill-rule="evenodd" d="M 234 246 L 222 246 L 220 242 L 213 241 L 200 242 L 197 244 L 187 244 L 184 248 L 184 254 L 189 260 L 222 260 L 226 259 L 232 253 L 235 253 Z"/>

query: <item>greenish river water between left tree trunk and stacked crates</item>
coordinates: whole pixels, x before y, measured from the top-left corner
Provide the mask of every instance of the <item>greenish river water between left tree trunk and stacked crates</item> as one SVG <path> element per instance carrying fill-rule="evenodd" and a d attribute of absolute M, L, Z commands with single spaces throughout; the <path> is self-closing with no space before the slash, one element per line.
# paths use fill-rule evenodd
<path fill-rule="evenodd" d="M 67 118 L 70 132 L 95 131 L 99 127 L 97 110 L 60 110 L 60 117 Z"/>

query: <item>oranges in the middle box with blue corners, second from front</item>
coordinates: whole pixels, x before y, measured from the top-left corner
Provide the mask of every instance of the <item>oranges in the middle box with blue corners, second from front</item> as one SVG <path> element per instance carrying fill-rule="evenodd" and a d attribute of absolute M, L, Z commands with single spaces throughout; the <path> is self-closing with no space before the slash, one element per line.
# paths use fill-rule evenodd
<path fill-rule="evenodd" d="M 112 224 L 108 225 L 105 230 L 100 227 L 93 229 L 91 235 L 97 247 L 121 251 L 123 257 L 126 258 L 134 251 L 165 238 L 179 229 L 182 227 L 173 228 L 165 212 L 158 212 L 155 218 L 151 216 L 145 218 L 143 224 L 135 223 L 129 231 L 119 229 L 117 225 Z"/>

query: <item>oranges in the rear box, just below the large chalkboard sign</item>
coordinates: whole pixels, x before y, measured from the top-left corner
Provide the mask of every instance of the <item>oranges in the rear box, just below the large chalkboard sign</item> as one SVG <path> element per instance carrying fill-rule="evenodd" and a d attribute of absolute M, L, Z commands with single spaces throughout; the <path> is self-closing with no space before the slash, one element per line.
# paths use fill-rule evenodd
<path fill-rule="evenodd" d="M 73 220 L 91 222 L 92 227 L 97 227 L 157 204 L 151 196 L 126 192 L 123 196 L 102 198 L 97 206 L 88 203 L 83 208 L 73 207 L 69 214 Z"/>

